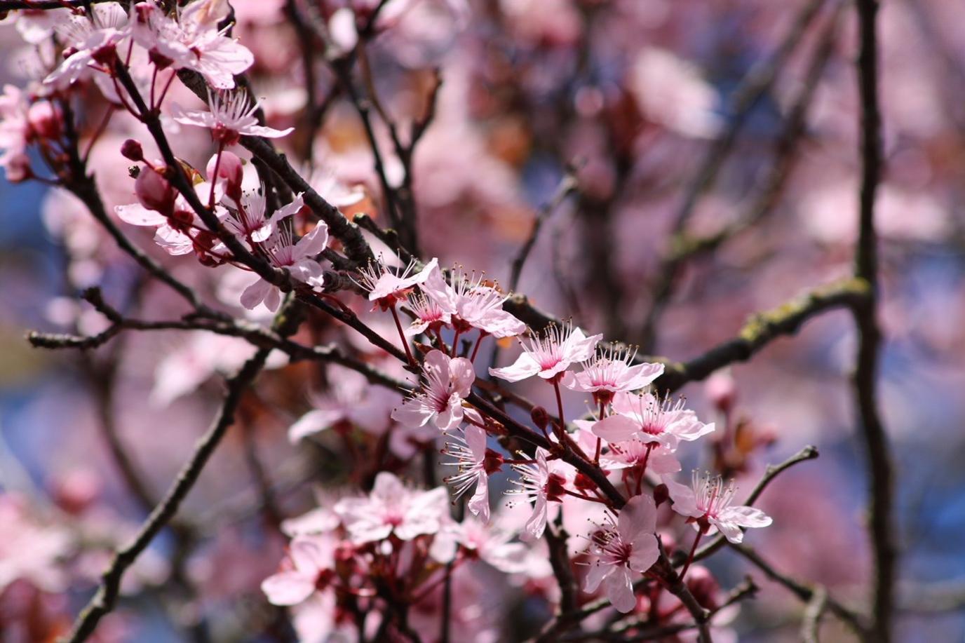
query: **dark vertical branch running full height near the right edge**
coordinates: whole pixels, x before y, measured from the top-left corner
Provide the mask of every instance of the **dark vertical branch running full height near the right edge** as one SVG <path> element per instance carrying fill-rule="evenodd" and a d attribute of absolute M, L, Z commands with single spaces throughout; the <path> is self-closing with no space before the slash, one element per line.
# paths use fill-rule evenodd
<path fill-rule="evenodd" d="M 895 603 L 895 527 L 892 524 L 894 473 L 888 436 L 882 425 L 877 402 L 878 358 L 881 328 L 877 320 L 878 258 L 874 229 L 874 199 L 882 174 L 881 112 L 878 107 L 878 58 L 875 20 L 877 0 L 858 0 L 858 90 L 861 95 L 862 179 L 859 204 L 858 243 L 855 275 L 869 285 L 869 296 L 853 308 L 858 327 L 858 354 L 854 372 L 855 400 L 869 461 L 869 535 L 874 560 L 871 598 L 872 634 L 876 641 L 892 640 L 892 611 Z"/>

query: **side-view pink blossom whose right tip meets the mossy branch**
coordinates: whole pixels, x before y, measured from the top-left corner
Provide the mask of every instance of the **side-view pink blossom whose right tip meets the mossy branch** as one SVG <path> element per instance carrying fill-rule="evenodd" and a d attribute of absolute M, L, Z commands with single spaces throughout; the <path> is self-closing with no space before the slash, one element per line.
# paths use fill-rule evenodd
<path fill-rule="evenodd" d="M 597 404 L 607 404 L 616 393 L 637 391 L 663 375 L 663 364 L 633 364 L 636 353 L 609 347 L 597 352 L 582 373 L 567 373 L 561 383 L 574 391 L 592 393 Z"/>

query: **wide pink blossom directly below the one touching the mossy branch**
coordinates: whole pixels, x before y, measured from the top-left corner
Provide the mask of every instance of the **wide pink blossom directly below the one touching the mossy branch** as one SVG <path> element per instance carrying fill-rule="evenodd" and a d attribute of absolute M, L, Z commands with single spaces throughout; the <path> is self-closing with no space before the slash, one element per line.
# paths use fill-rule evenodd
<path fill-rule="evenodd" d="M 674 451 L 678 440 L 693 441 L 714 432 L 713 423 L 703 424 L 683 405 L 682 398 L 675 404 L 669 396 L 661 401 L 649 393 L 623 393 L 614 398 L 615 413 L 594 424 L 593 433 L 609 442 L 633 437 L 645 443 L 659 442 Z"/>

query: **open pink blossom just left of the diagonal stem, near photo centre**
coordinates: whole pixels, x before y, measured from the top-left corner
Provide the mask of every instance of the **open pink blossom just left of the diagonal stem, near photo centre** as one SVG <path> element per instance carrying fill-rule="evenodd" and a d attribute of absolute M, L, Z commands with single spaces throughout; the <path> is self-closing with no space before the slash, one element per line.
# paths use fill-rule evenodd
<path fill-rule="evenodd" d="M 432 422 L 440 431 L 450 431 L 462 423 L 467 412 L 462 400 L 469 395 L 476 371 L 465 357 L 450 357 L 442 350 L 430 350 L 423 363 L 425 383 L 416 393 L 392 411 L 392 419 L 410 427 Z M 470 417 L 482 423 L 478 414 Z"/>

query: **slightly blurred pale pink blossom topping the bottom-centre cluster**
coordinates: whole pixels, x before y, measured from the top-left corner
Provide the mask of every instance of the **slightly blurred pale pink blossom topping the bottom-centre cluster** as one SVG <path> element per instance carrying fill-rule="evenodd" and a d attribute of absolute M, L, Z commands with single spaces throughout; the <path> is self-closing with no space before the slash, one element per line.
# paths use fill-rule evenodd
<path fill-rule="evenodd" d="M 381 541 L 394 535 L 411 541 L 434 534 L 449 519 L 444 487 L 428 491 L 407 489 L 395 475 L 382 471 L 368 497 L 343 498 L 335 505 L 345 529 L 356 544 Z"/>

